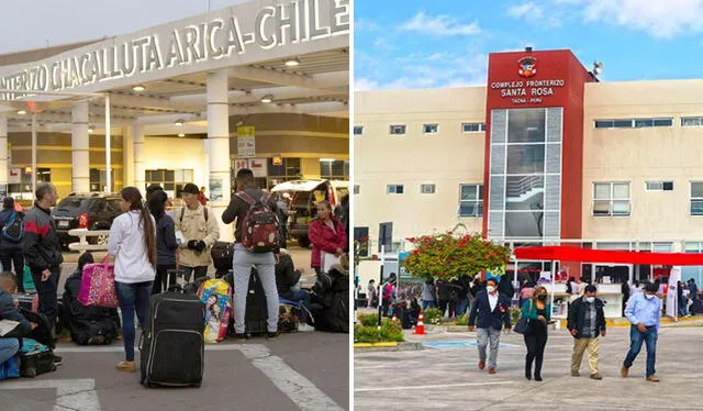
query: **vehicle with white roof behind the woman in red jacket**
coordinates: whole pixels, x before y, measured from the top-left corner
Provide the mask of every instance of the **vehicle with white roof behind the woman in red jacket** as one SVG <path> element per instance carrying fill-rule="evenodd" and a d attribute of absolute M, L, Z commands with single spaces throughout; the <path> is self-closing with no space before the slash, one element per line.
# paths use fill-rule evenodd
<path fill-rule="evenodd" d="M 310 246 L 308 225 L 315 218 L 315 203 L 327 200 L 332 209 L 339 206 L 342 198 L 349 195 L 349 181 L 345 180 L 293 180 L 277 185 L 271 192 L 291 195 L 291 216 L 288 233 L 298 240 L 301 247 Z"/>

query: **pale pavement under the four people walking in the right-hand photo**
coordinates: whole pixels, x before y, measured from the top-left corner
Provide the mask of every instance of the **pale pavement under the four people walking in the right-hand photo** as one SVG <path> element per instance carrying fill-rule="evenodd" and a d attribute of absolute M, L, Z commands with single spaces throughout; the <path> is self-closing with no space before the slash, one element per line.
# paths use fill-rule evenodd
<path fill-rule="evenodd" d="M 657 351 L 659 384 L 644 379 L 644 347 L 629 378 L 620 377 L 627 333 L 628 329 L 612 329 L 602 338 L 601 381 L 588 378 L 585 356 L 581 377 L 571 377 L 572 338 L 566 331 L 549 334 L 543 382 L 525 379 L 525 347 L 518 334 L 501 338 L 498 374 L 492 376 L 478 370 L 476 348 L 466 346 L 476 341 L 473 333 L 427 335 L 421 341 L 444 344 L 421 352 L 355 353 L 355 409 L 703 410 L 698 396 L 703 327 L 662 330 Z"/>

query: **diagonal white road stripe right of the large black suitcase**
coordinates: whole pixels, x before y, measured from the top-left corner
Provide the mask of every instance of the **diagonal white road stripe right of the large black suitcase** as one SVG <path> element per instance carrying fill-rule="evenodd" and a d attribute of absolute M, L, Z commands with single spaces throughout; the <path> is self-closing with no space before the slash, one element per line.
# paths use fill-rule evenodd
<path fill-rule="evenodd" d="M 301 410 L 343 410 L 308 378 L 286 364 L 282 358 L 271 355 L 265 345 L 241 345 L 239 351 Z"/>

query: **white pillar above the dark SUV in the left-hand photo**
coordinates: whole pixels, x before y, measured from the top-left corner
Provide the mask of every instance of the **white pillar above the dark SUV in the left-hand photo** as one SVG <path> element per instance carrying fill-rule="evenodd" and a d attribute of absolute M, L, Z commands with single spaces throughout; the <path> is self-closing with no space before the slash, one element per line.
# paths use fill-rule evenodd
<path fill-rule="evenodd" d="M 71 190 L 90 191 L 90 142 L 88 138 L 88 102 L 71 105 Z"/>

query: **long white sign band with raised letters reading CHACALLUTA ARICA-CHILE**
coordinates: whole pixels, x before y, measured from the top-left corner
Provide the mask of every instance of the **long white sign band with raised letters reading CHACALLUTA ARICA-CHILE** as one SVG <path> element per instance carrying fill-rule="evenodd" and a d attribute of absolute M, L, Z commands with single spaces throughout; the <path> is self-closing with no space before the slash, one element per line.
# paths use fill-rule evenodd
<path fill-rule="evenodd" d="M 349 9 L 349 0 L 252 1 L 233 5 L 211 12 L 209 21 L 201 15 L 155 27 L 153 33 L 142 31 L 85 46 L 79 52 L 66 52 L 20 71 L 0 71 L 0 89 L 16 90 L 0 93 L 0 100 L 16 100 L 32 90 L 72 90 L 158 71 L 180 75 L 187 66 L 212 69 L 214 65 L 209 63 L 216 60 L 224 62 L 219 65 L 222 67 L 245 64 L 244 57 L 257 51 L 348 35 Z M 265 57 L 261 53 L 258 56 Z"/>

